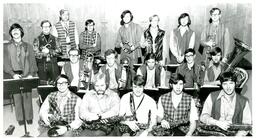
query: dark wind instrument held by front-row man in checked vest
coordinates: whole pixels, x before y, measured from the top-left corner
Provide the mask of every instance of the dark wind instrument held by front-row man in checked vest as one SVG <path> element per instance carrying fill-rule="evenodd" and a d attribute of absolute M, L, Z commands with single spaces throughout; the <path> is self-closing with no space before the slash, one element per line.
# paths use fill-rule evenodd
<path fill-rule="evenodd" d="M 151 133 L 154 136 L 171 136 L 173 134 L 174 128 L 189 124 L 188 118 L 184 118 L 182 120 L 167 120 L 167 121 L 170 125 L 169 129 L 163 128 L 161 125 L 155 125 L 153 126 Z"/>

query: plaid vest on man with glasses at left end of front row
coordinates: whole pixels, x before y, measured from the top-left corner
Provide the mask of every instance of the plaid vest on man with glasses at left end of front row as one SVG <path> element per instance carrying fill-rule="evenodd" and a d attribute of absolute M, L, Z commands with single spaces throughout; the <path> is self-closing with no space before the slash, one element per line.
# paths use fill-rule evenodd
<path fill-rule="evenodd" d="M 51 101 L 54 101 L 55 103 L 57 102 L 57 93 L 58 92 L 53 92 L 49 94 L 49 103 L 51 103 Z M 50 105 L 50 109 L 56 111 L 56 113 L 60 113 L 61 118 L 70 124 L 75 120 L 75 106 L 77 98 L 78 96 L 71 92 L 71 98 L 67 100 L 63 113 L 60 112 L 59 108 L 51 108 L 52 105 Z"/>

